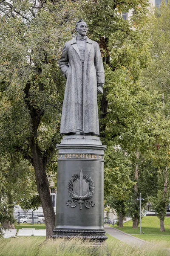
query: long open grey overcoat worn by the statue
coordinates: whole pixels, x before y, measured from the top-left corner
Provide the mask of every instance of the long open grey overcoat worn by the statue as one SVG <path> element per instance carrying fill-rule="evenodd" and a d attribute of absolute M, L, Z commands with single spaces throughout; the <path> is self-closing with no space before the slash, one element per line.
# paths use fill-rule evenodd
<path fill-rule="evenodd" d="M 105 83 L 99 44 L 86 37 L 83 67 L 76 37 L 66 42 L 59 68 L 67 79 L 60 133 L 99 134 L 97 84 Z"/>

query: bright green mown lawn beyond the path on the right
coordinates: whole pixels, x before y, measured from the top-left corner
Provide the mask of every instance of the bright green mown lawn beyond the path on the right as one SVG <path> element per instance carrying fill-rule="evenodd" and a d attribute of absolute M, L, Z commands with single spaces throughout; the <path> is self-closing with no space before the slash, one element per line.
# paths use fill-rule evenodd
<path fill-rule="evenodd" d="M 112 225 L 109 225 L 113 227 Z M 115 228 L 124 231 L 128 234 L 140 234 L 140 226 L 132 228 L 132 221 L 127 221 L 123 224 L 124 227 L 118 227 L 114 225 Z M 165 232 L 160 231 L 160 220 L 156 216 L 146 216 L 142 218 L 142 232 L 145 235 L 170 235 L 170 218 L 165 217 L 164 219 Z"/>

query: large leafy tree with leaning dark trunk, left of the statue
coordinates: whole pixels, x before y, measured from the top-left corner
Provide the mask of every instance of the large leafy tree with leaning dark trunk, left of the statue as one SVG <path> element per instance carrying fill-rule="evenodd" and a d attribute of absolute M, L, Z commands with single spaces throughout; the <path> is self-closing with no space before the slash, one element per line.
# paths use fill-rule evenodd
<path fill-rule="evenodd" d="M 0 7 L 0 155 L 20 152 L 34 166 L 47 237 L 55 214 L 46 169 L 60 142 L 65 84 L 57 63 L 62 42 L 73 34 L 76 7 L 62 0 L 3 1 Z"/>

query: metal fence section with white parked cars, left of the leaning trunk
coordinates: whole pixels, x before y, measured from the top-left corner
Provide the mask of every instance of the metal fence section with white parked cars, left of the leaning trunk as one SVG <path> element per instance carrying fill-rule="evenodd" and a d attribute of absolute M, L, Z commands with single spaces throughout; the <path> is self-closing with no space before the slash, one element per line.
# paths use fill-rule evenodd
<path fill-rule="evenodd" d="M 23 211 L 15 210 L 14 218 L 17 220 L 18 224 L 44 224 L 44 214 L 43 211 Z"/>

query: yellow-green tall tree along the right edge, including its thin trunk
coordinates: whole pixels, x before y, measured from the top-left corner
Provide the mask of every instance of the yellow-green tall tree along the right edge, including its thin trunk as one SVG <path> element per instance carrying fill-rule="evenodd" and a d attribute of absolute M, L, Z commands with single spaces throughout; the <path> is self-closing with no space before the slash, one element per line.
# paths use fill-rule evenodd
<path fill-rule="evenodd" d="M 157 193 L 152 200 L 152 207 L 160 219 L 160 229 L 164 231 L 164 217 L 166 206 L 169 203 L 169 152 L 170 152 L 170 4 L 161 3 L 151 15 L 150 29 L 150 55 L 151 61 L 143 74 L 143 83 L 150 91 L 158 90 L 161 108 L 156 115 L 150 118 L 150 145 L 148 157 L 152 159 L 153 166 L 158 169 Z"/>

